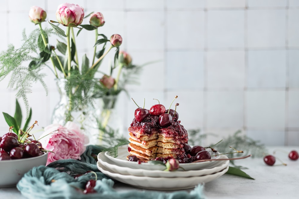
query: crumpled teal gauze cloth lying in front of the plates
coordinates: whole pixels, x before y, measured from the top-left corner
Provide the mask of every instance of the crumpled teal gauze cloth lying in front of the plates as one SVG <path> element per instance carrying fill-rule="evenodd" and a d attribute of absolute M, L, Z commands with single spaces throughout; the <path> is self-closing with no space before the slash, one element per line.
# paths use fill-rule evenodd
<path fill-rule="evenodd" d="M 203 185 L 195 187 L 190 193 L 187 191 L 173 191 L 170 193 L 156 191 L 124 191 L 113 189 L 114 181 L 97 169 L 94 155 L 103 150 L 100 146 L 88 146 L 86 152 L 78 160 L 58 160 L 48 166 L 33 167 L 25 173 L 18 182 L 17 189 L 27 198 L 43 199 L 203 199 Z M 97 193 L 84 194 L 87 181 L 95 179 L 94 190 Z M 86 173 L 86 174 L 85 174 Z M 74 175 L 84 174 L 76 179 Z M 178 182 L 179 183 L 179 182 Z"/>

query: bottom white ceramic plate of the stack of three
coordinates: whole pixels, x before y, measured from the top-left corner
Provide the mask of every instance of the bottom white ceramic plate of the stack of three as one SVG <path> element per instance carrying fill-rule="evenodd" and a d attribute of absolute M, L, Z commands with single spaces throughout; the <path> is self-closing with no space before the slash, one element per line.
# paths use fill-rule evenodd
<path fill-rule="evenodd" d="M 199 183 L 207 183 L 213 181 L 225 174 L 225 172 L 227 172 L 228 170 L 227 166 L 222 171 L 210 175 L 193 176 L 187 178 L 152 178 L 147 176 L 121 175 L 119 173 L 114 173 L 109 168 L 103 166 L 99 161 L 97 162 L 97 167 L 105 175 L 108 175 L 110 178 L 122 183 L 126 183 L 139 188 L 155 190 L 190 189 L 197 186 Z"/>

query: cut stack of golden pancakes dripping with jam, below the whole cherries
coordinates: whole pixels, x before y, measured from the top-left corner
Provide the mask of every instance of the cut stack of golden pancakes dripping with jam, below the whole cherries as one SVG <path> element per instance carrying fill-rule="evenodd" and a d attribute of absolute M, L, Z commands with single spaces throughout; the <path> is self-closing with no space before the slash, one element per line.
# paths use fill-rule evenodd
<path fill-rule="evenodd" d="M 177 155 L 184 154 L 183 147 L 188 142 L 188 134 L 179 122 L 166 128 L 152 129 L 150 133 L 144 129 L 144 126 L 129 127 L 130 155 L 135 155 L 141 160 L 152 160 L 176 158 Z"/>

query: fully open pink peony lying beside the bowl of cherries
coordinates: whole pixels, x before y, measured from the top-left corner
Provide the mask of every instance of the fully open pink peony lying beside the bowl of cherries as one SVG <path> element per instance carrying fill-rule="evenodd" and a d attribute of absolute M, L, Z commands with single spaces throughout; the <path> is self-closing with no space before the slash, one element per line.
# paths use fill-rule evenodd
<path fill-rule="evenodd" d="M 45 127 L 45 132 L 40 138 L 43 148 L 54 152 L 49 152 L 47 165 L 60 159 L 80 160 L 80 155 L 86 149 L 85 144 L 88 143 L 86 135 L 71 121 L 68 121 L 64 127 L 59 124 Z"/>

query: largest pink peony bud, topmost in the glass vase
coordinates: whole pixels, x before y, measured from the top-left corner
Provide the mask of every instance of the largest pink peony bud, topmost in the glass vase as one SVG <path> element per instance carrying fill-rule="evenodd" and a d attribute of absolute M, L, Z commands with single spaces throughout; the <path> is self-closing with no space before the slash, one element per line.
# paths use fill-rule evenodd
<path fill-rule="evenodd" d="M 75 4 L 60 4 L 56 11 L 57 21 L 64 26 L 77 27 L 82 23 L 83 17 L 83 7 Z"/>

